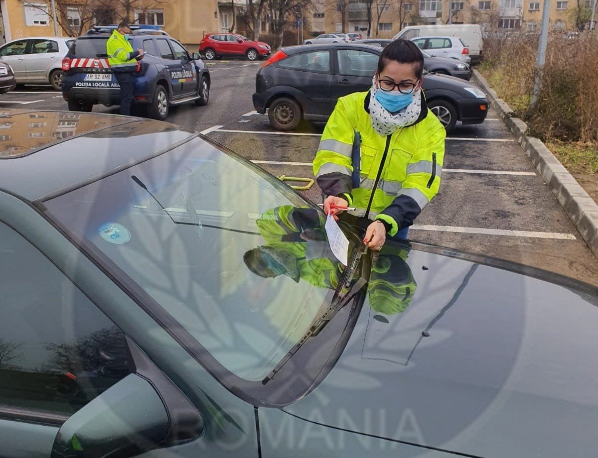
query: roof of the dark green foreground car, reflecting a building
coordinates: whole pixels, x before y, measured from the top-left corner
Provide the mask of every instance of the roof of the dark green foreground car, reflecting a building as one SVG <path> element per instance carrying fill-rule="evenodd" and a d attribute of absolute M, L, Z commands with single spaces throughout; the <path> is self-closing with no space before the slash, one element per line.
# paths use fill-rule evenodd
<path fill-rule="evenodd" d="M 197 134 L 103 113 L 0 109 L 0 190 L 26 201 L 59 195 L 145 161 Z M 31 133 L 40 136 L 31 136 Z"/>

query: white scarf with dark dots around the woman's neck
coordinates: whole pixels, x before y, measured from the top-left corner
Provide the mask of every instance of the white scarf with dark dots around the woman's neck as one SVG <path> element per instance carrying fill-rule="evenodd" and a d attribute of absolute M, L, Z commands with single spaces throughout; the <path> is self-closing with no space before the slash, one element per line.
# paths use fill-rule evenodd
<path fill-rule="evenodd" d="M 370 105 L 368 108 L 370 109 L 372 127 L 377 133 L 387 136 L 417 121 L 419 113 L 422 110 L 422 91 L 420 89 L 413 94 L 413 101 L 394 115 L 376 100 L 376 93 L 378 91 L 376 76 L 374 76 L 370 89 Z"/>

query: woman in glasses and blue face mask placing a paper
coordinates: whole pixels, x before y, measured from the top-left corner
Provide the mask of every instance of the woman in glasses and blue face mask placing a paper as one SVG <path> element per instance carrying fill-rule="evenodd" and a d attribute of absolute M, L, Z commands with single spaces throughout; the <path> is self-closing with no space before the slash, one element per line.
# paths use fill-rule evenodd
<path fill-rule="evenodd" d="M 325 213 L 362 226 L 373 250 L 387 235 L 406 238 L 440 186 L 446 131 L 426 105 L 422 75 L 419 48 L 408 40 L 390 43 L 370 91 L 338 99 L 313 161 Z M 356 210 L 348 216 L 335 208 L 349 206 Z"/>

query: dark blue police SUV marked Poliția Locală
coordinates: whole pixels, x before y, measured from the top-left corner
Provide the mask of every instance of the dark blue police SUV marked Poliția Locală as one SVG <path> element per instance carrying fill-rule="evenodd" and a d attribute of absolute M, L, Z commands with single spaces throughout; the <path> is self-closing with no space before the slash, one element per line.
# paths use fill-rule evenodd
<path fill-rule="evenodd" d="M 108 64 L 106 41 L 111 30 L 77 38 L 62 60 L 62 96 L 69 110 L 91 111 L 94 104 L 120 104 L 120 87 Z M 185 102 L 208 104 L 210 73 L 199 54 L 159 30 L 137 29 L 130 38 L 134 50 L 145 51 L 133 85 L 133 104 L 154 119 L 165 119 L 169 107 Z"/>

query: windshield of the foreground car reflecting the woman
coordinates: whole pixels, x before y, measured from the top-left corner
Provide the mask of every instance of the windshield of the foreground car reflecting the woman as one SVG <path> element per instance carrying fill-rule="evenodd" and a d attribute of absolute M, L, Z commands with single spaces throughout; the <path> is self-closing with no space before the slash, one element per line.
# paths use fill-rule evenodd
<path fill-rule="evenodd" d="M 304 336 L 344 272 L 321 210 L 199 138 L 45 205 L 166 327 L 249 381 Z M 351 255 L 358 238 L 343 231 Z"/>

